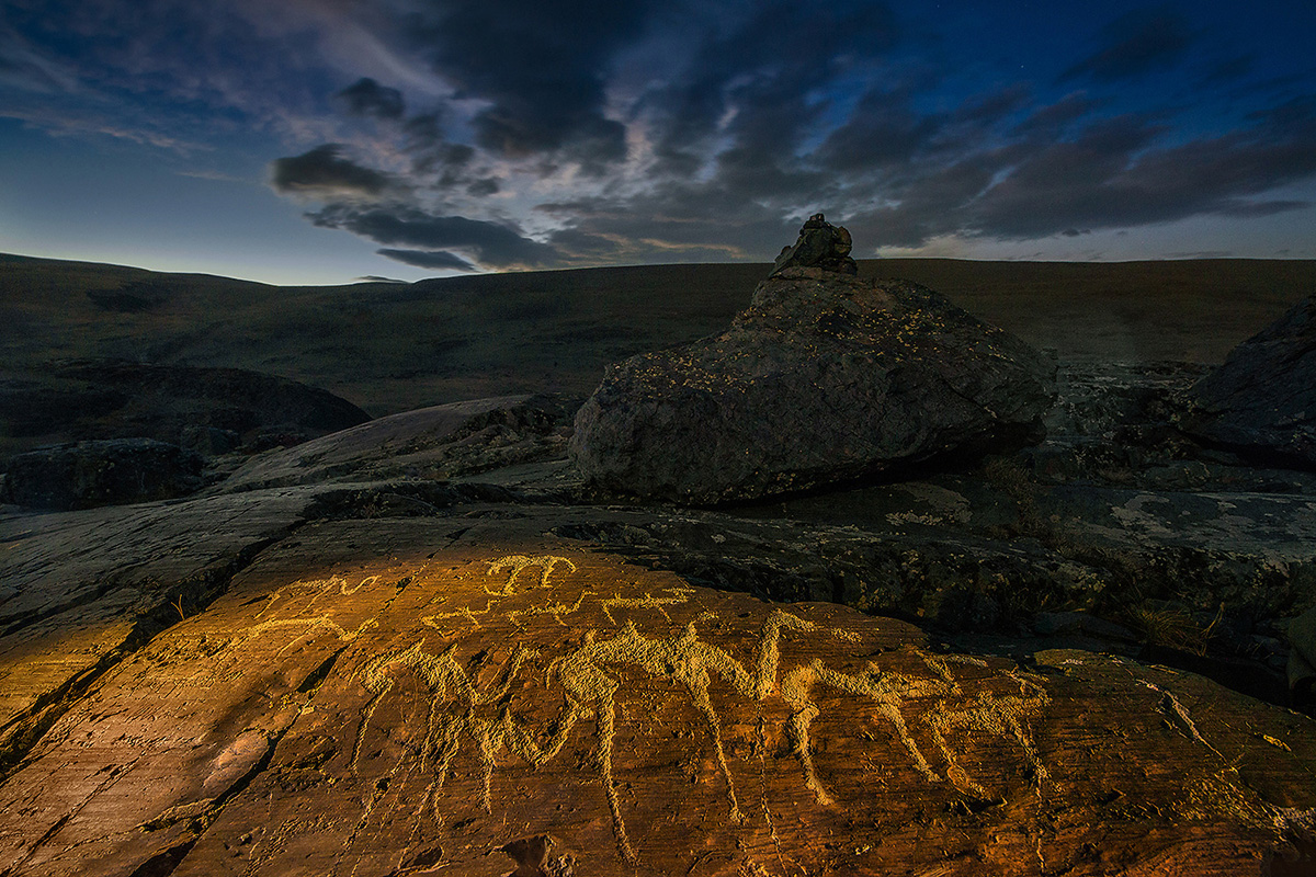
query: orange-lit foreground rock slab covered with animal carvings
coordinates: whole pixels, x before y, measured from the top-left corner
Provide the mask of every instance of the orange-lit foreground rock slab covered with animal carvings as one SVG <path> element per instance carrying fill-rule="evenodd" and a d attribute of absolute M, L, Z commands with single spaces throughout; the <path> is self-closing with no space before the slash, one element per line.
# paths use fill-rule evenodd
<path fill-rule="evenodd" d="M 1261 874 L 1316 827 L 1308 718 L 695 588 L 574 514 L 303 526 L 42 738 L 0 873 Z"/>

